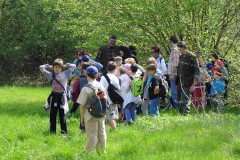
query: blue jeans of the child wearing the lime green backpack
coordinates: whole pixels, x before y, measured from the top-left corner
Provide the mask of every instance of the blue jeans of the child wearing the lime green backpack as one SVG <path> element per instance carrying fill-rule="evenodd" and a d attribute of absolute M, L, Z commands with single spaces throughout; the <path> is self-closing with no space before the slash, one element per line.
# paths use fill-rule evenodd
<path fill-rule="evenodd" d="M 126 121 L 125 122 L 131 122 L 135 120 L 136 117 L 136 108 L 137 104 L 131 102 L 126 105 L 124 108 L 125 111 L 125 116 L 126 116 Z"/>

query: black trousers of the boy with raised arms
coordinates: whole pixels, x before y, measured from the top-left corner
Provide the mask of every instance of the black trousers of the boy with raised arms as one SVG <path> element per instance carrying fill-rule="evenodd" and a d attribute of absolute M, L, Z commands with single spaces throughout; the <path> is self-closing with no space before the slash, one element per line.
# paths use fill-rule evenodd
<path fill-rule="evenodd" d="M 64 113 L 64 109 L 60 108 L 60 104 L 57 103 L 57 106 L 54 106 L 54 102 L 51 104 L 50 109 L 50 133 L 56 133 L 56 118 L 57 118 L 57 112 L 59 111 L 59 119 L 60 119 L 60 125 L 61 125 L 61 133 L 67 134 L 67 122 L 66 122 L 66 116 Z"/>

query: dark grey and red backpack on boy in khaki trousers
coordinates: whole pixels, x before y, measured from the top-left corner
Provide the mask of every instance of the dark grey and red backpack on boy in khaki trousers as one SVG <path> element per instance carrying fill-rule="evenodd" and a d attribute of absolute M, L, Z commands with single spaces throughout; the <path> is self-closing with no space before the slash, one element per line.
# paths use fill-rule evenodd
<path fill-rule="evenodd" d="M 96 88 L 91 84 L 87 84 L 85 87 L 89 87 L 94 90 L 94 94 L 86 102 L 86 108 L 88 112 L 96 118 L 104 117 L 107 111 L 107 100 L 105 98 L 104 92 Z"/>

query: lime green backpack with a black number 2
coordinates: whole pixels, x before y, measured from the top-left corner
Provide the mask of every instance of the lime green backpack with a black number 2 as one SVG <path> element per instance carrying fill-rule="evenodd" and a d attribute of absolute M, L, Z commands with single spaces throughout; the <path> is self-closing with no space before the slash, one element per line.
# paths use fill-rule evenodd
<path fill-rule="evenodd" d="M 144 83 L 142 81 L 142 77 L 135 77 L 133 78 L 132 76 L 129 76 L 129 78 L 132 80 L 132 85 L 131 85 L 131 91 L 134 96 L 139 96 L 143 94 L 144 90 Z"/>

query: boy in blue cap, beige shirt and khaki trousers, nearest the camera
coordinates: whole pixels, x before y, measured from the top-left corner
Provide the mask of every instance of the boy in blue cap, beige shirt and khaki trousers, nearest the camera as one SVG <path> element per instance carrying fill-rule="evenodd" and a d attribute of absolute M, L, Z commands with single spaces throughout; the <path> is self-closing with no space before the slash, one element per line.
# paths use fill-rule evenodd
<path fill-rule="evenodd" d="M 86 70 L 86 78 L 88 84 L 91 84 L 96 89 L 100 89 L 105 92 L 104 87 L 96 80 L 98 70 L 94 66 L 90 66 Z M 94 94 L 94 91 L 90 87 L 83 87 L 82 91 L 77 99 L 77 103 L 80 104 L 81 124 L 86 128 L 86 134 L 88 141 L 86 149 L 92 151 L 100 147 L 103 151 L 106 148 L 106 131 L 105 131 L 105 117 L 95 118 L 86 109 L 87 100 Z"/>

